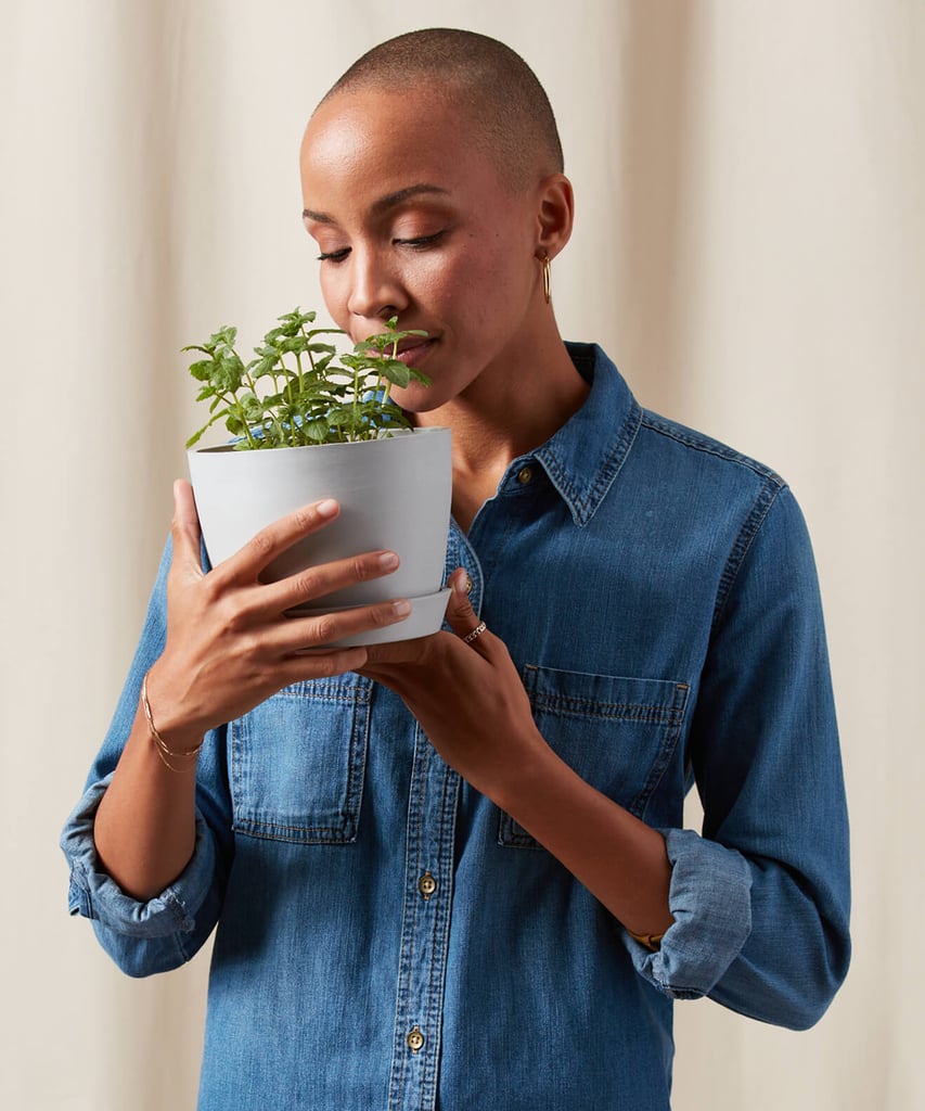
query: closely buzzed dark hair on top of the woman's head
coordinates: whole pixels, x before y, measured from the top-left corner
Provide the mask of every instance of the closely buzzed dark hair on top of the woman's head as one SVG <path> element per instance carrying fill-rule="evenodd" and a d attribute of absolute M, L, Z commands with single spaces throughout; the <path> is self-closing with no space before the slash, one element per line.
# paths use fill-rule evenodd
<path fill-rule="evenodd" d="M 340 93 L 411 87 L 425 87 L 464 113 L 469 138 L 510 187 L 562 172 L 559 129 L 543 87 L 520 54 L 474 31 L 432 28 L 389 39 L 355 61 L 321 103 Z"/>

